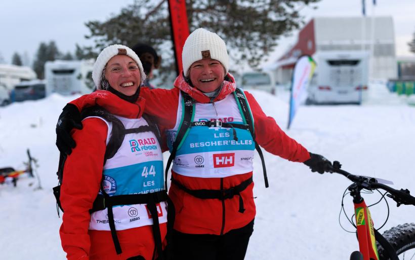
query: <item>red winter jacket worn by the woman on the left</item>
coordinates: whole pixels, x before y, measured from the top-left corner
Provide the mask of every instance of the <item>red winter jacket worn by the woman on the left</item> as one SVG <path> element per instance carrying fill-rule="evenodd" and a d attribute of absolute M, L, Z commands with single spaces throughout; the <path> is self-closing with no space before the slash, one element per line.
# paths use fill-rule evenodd
<path fill-rule="evenodd" d="M 102 103 L 111 114 L 125 118 L 140 118 L 145 100 L 139 98 L 131 104 L 103 91 Z M 114 260 L 142 255 L 150 260 L 154 251 L 154 238 L 151 226 L 117 231 L 122 253 L 117 255 L 110 231 L 89 230 L 89 209 L 97 197 L 102 179 L 104 154 L 108 127 L 98 118 L 82 121 L 82 130 L 73 130 L 76 147 L 67 157 L 64 166 L 64 181 L 60 200 L 65 212 L 62 217 L 60 237 L 62 248 L 69 260 Z M 160 224 L 161 238 L 164 240 L 167 225 Z M 165 244 L 165 241 L 163 242 Z"/>

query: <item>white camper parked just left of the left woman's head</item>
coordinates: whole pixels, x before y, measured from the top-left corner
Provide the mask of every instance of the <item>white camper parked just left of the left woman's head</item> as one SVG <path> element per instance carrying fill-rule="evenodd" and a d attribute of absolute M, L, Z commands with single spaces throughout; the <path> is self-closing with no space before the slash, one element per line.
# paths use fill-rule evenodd
<path fill-rule="evenodd" d="M 87 94 L 94 89 L 93 60 L 55 60 L 45 63 L 47 95 Z"/>

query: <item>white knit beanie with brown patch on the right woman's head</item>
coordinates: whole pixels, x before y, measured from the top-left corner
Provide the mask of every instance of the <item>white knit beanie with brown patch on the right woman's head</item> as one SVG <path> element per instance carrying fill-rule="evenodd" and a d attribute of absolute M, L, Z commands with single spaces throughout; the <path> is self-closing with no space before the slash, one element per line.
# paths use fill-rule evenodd
<path fill-rule="evenodd" d="M 229 55 L 225 42 L 215 32 L 203 28 L 194 30 L 187 37 L 182 51 L 184 76 L 189 76 L 189 68 L 193 62 L 203 58 L 219 60 L 225 67 L 225 75 L 229 70 Z"/>

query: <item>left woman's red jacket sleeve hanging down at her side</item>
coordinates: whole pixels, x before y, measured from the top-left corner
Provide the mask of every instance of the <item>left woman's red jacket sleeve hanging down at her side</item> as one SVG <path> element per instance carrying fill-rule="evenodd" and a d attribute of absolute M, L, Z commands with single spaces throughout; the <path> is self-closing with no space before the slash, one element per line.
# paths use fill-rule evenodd
<path fill-rule="evenodd" d="M 99 118 L 82 123 L 82 130 L 72 130 L 76 147 L 66 159 L 61 186 L 65 212 L 59 233 L 69 260 L 89 259 L 89 209 L 100 189 L 108 133 L 107 124 Z"/>

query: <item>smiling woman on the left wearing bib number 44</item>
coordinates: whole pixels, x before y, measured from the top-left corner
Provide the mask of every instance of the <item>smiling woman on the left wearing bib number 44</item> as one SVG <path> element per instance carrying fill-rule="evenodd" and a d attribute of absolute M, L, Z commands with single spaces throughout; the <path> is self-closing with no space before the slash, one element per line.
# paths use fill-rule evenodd
<path fill-rule="evenodd" d="M 72 132 L 77 145 L 66 158 L 60 195 L 63 250 L 69 260 L 162 259 L 167 193 L 158 134 L 142 117 L 141 61 L 130 48 L 111 45 L 92 77 L 105 99 Z M 107 156 L 111 136 L 119 137 L 115 127 L 130 131 Z"/>

